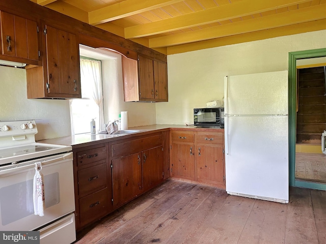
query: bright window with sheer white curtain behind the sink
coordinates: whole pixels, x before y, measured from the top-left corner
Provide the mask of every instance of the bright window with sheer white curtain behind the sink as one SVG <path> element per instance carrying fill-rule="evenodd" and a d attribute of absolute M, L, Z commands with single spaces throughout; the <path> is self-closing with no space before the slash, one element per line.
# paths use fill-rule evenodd
<path fill-rule="evenodd" d="M 70 100 L 72 134 L 90 132 L 92 118 L 95 120 L 96 130 L 103 123 L 101 61 L 81 57 L 80 81 L 82 99 Z"/>

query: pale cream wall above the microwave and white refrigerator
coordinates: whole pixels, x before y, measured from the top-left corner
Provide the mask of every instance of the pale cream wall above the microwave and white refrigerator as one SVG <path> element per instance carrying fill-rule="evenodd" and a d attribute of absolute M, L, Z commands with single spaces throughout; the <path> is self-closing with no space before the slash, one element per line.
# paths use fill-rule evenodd
<path fill-rule="evenodd" d="M 224 76 L 288 69 L 288 53 L 326 48 L 326 30 L 168 55 L 169 102 L 157 124 L 193 124 L 193 109 L 222 100 Z"/>

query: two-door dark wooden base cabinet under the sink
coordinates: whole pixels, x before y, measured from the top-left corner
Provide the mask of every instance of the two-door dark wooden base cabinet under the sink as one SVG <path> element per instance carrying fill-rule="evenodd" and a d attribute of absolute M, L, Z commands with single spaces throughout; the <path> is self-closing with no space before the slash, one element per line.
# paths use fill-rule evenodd
<path fill-rule="evenodd" d="M 117 208 L 163 181 L 162 133 L 109 143 L 113 206 Z"/>

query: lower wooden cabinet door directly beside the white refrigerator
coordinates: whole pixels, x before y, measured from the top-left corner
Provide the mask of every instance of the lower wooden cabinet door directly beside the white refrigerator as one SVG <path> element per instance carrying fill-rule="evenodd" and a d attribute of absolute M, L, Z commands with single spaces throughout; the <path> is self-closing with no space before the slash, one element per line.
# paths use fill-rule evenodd
<path fill-rule="evenodd" d="M 197 179 L 211 184 L 224 184 L 223 146 L 197 145 Z"/>

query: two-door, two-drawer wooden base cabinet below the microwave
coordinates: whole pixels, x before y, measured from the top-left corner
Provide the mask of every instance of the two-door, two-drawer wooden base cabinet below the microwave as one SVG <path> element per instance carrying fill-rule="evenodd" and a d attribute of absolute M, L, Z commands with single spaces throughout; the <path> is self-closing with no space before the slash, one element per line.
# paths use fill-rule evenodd
<path fill-rule="evenodd" d="M 224 130 L 172 130 L 172 176 L 225 189 Z"/>

